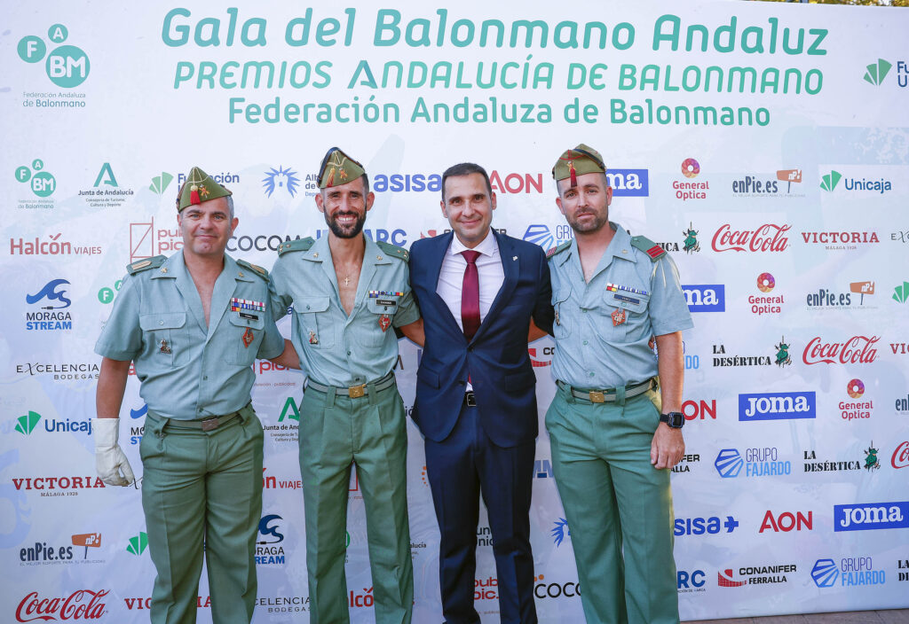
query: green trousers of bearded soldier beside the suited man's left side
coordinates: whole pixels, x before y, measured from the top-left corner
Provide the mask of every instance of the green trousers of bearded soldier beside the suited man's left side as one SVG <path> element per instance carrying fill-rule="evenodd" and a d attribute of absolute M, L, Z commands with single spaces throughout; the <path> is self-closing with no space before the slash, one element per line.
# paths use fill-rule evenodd
<path fill-rule="evenodd" d="M 300 473 L 306 519 L 310 622 L 345 624 L 345 531 L 351 464 L 363 490 L 376 624 L 409 624 L 414 566 L 407 519 L 407 429 L 397 386 L 351 398 L 306 388 Z"/>

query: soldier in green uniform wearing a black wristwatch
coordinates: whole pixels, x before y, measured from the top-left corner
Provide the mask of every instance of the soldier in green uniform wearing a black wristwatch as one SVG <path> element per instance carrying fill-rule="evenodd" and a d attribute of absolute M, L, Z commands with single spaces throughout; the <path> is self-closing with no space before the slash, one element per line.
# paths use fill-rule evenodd
<path fill-rule="evenodd" d="M 549 258 L 558 388 L 546 429 L 588 624 L 667 624 L 679 621 L 669 469 L 684 453 L 692 322 L 665 251 L 609 221 L 605 171 L 583 144 L 553 168 L 574 240 Z"/>

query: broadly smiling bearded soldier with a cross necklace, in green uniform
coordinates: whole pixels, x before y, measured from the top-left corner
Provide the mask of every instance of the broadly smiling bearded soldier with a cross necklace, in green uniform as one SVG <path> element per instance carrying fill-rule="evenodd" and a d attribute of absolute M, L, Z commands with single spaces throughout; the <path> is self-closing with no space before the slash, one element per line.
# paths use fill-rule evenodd
<path fill-rule="evenodd" d="M 300 414 L 310 620 L 349 621 L 345 527 L 351 464 L 366 508 L 378 624 L 410 622 L 414 570 L 407 520 L 405 410 L 392 367 L 394 327 L 421 331 L 407 252 L 363 234 L 375 196 L 363 167 L 325 154 L 316 207 L 329 232 L 284 243 L 272 311 L 293 304 L 291 337 L 308 375 Z"/>

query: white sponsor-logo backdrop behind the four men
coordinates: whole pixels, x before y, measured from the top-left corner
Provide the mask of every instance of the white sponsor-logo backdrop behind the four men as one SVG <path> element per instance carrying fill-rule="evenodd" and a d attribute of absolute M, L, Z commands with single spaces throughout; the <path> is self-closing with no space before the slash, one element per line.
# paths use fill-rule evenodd
<path fill-rule="evenodd" d="M 376 192 L 366 234 L 447 226 L 440 173 L 476 161 L 494 227 L 571 238 L 550 169 L 584 141 L 612 218 L 677 263 L 687 453 L 674 469 L 683 619 L 909 606 L 909 54 L 904 9 L 745 2 L 435 8 L 43 2 L 0 24 L 3 621 L 147 619 L 138 488 L 95 478 L 95 339 L 125 264 L 179 251 L 192 165 L 235 193 L 230 253 L 271 267 L 325 235 L 315 171 L 338 145 Z M 288 324 L 284 321 L 286 332 Z M 419 350 L 395 372 L 414 396 Z M 553 342 L 530 345 L 540 417 Z M 308 621 L 297 466 L 303 376 L 255 365 L 266 428 L 257 622 Z M 121 439 L 141 474 L 131 377 Z M 415 621 L 441 618 L 423 441 L 409 424 Z M 549 440 L 531 512 L 537 609 L 583 618 Z M 141 487 L 141 483 L 139 483 Z M 352 619 L 373 619 L 350 485 Z M 488 523 L 477 607 L 498 619 Z M 210 621 L 205 579 L 200 620 Z"/>

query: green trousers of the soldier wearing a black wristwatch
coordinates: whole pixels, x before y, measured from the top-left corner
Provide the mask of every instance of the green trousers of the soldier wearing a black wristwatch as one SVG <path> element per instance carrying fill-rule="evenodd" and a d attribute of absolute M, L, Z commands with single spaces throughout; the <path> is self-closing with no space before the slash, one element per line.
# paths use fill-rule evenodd
<path fill-rule="evenodd" d="M 560 387 L 546 412 L 587 624 L 679 621 L 669 471 L 650 463 L 658 390 L 590 403 Z M 624 554 L 623 554 L 624 547 Z"/>

